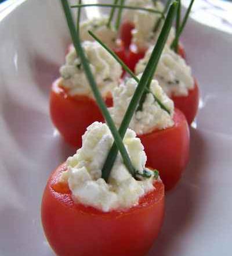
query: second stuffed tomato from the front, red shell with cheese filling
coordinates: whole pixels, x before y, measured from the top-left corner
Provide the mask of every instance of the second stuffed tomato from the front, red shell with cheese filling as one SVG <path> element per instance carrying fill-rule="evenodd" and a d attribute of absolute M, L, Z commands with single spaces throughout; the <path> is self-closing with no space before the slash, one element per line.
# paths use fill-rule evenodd
<path fill-rule="evenodd" d="M 138 79 L 140 77 L 141 74 Z M 130 78 L 113 91 L 114 104 L 109 110 L 118 127 L 136 87 L 137 82 Z M 157 80 L 151 81 L 150 93 L 145 95 L 143 105 L 133 115 L 129 127 L 144 145 L 147 166 L 158 169 L 165 189 L 172 189 L 189 160 L 189 126 Z"/>

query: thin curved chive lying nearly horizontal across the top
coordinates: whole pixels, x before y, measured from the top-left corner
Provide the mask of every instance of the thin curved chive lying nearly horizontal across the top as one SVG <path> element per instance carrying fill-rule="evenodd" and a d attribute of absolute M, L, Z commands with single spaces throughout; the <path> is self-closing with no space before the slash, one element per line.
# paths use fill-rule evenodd
<path fill-rule="evenodd" d="M 90 6 L 99 6 L 99 7 L 106 7 L 106 8 L 122 8 L 122 9 L 131 9 L 131 10 L 144 10 L 146 12 L 153 12 L 158 13 L 164 19 L 164 13 L 160 12 L 159 10 L 154 10 L 151 8 L 143 8 L 143 7 L 136 7 L 136 6 L 129 6 L 129 5 L 111 5 L 111 4 L 104 4 L 104 3 L 89 3 L 85 5 L 72 5 L 71 8 L 83 8 L 83 7 L 90 7 Z"/>

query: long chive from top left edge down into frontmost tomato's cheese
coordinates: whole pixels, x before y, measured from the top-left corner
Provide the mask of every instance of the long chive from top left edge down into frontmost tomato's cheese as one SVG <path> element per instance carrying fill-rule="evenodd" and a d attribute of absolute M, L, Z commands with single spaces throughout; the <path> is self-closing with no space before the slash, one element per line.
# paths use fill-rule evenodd
<path fill-rule="evenodd" d="M 126 148 L 125 148 L 124 144 L 122 143 L 122 138 L 119 135 L 117 128 L 114 125 L 113 120 L 111 119 L 110 113 L 108 112 L 108 109 L 107 109 L 106 105 L 104 104 L 102 95 L 100 94 L 100 92 L 97 88 L 92 71 L 90 70 L 90 67 L 89 67 L 88 60 L 86 59 L 84 50 L 82 49 L 82 46 L 81 46 L 81 41 L 78 36 L 79 33 L 76 33 L 76 31 L 75 31 L 75 25 L 73 22 L 73 17 L 71 16 L 71 11 L 68 6 L 68 2 L 67 2 L 67 0 L 60 0 L 60 1 L 63 6 L 64 14 L 66 16 L 68 28 L 70 30 L 71 38 L 73 39 L 73 44 L 74 44 L 75 50 L 79 54 L 79 58 L 81 59 L 83 68 L 85 70 L 86 77 L 89 81 L 89 85 L 92 88 L 93 94 L 95 95 L 96 102 L 97 102 L 99 108 L 101 109 L 104 118 L 106 119 L 107 125 L 110 128 L 111 133 L 114 137 L 114 143 L 115 143 L 115 145 L 117 145 L 116 147 L 118 148 L 118 150 L 121 153 L 121 156 L 122 156 L 122 159 L 124 161 L 126 168 L 128 169 L 129 172 L 132 173 L 132 175 L 134 175 L 135 169 L 132 166 L 131 159 L 129 158 L 128 152 L 126 151 Z M 110 173 L 110 170 L 111 169 L 108 169 L 109 173 Z"/>

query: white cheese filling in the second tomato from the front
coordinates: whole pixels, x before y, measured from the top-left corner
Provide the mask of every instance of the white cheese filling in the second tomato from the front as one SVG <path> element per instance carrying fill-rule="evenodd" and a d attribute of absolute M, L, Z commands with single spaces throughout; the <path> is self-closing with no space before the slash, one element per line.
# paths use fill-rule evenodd
<path fill-rule="evenodd" d="M 140 78 L 140 76 L 138 76 Z M 137 82 L 134 79 L 128 79 L 125 83 L 120 84 L 119 87 L 113 91 L 113 107 L 109 108 L 111 116 L 115 125 L 119 127 L 124 118 L 126 109 L 132 99 L 137 87 Z M 146 134 L 153 130 L 162 130 L 174 125 L 173 101 L 167 97 L 162 88 L 158 85 L 156 80 L 152 80 L 150 84 L 151 93 L 146 94 L 146 99 L 143 103 L 143 108 L 135 112 L 129 127 L 133 129 L 137 135 Z M 166 106 L 171 112 L 166 112 L 154 98 L 157 97 L 159 101 Z"/>

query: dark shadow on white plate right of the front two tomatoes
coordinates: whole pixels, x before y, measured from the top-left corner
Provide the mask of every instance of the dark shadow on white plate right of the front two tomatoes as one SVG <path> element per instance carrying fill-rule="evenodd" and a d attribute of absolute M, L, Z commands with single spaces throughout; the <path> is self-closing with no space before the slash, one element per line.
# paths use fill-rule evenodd
<path fill-rule="evenodd" d="M 190 163 L 179 184 L 166 194 L 164 226 L 147 256 L 172 256 L 182 246 L 181 237 L 189 232 L 195 205 L 200 199 L 198 177 L 201 176 L 205 144 L 200 131 L 191 128 Z"/>

